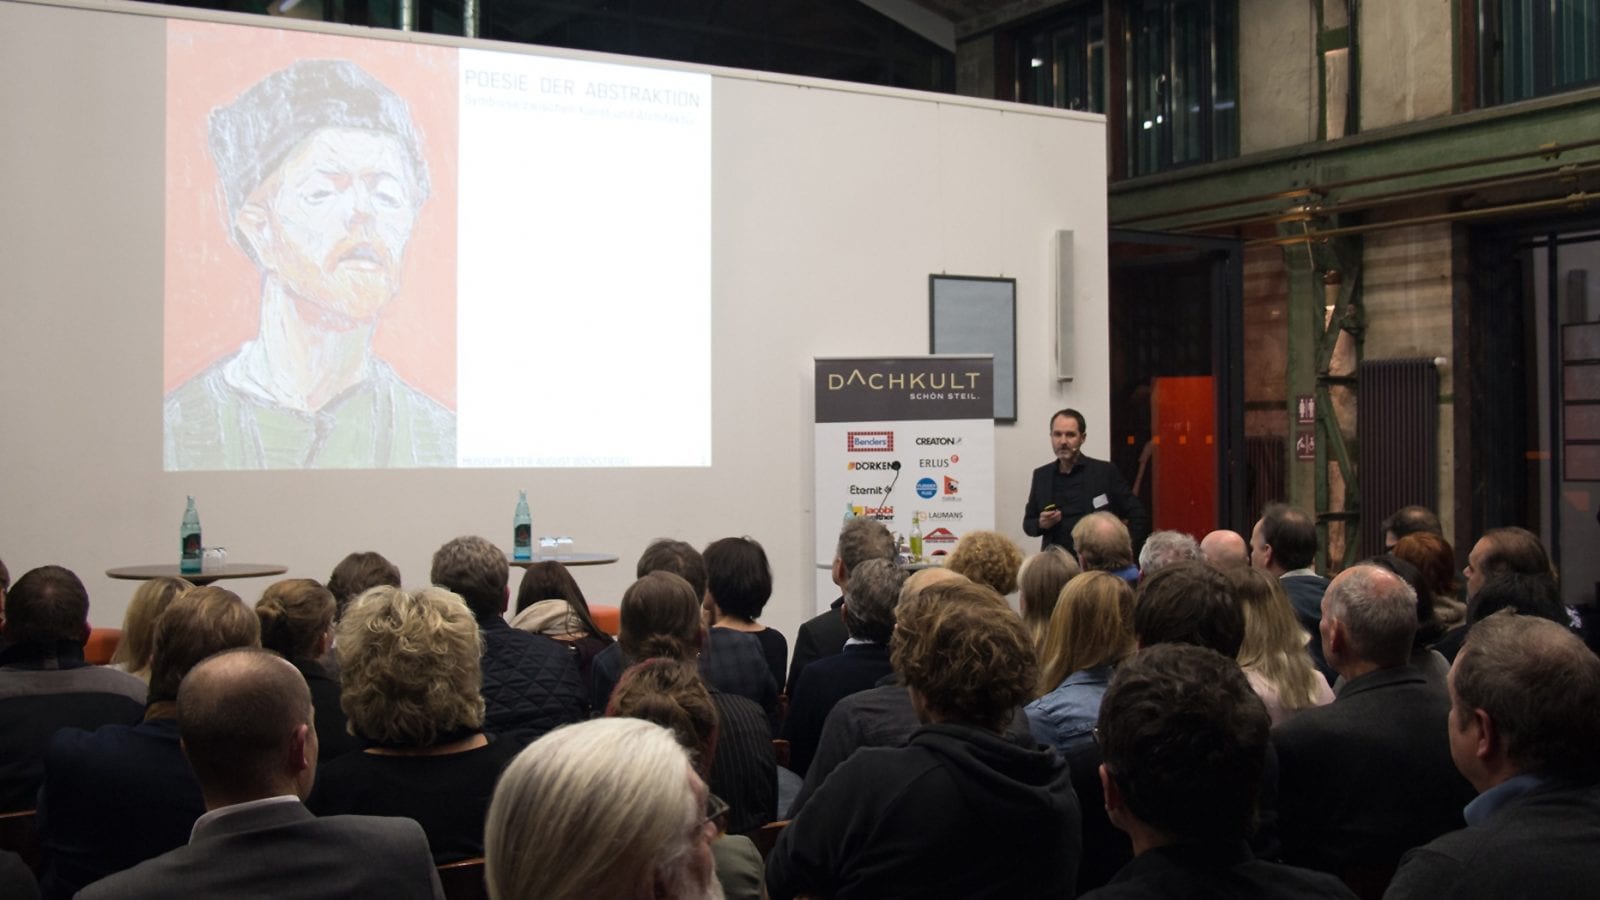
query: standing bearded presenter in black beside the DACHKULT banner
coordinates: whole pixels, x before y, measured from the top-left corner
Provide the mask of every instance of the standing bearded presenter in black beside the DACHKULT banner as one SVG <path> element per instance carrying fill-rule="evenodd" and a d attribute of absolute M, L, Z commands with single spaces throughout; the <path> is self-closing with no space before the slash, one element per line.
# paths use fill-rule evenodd
<path fill-rule="evenodd" d="M 1074 556 L 1072 527 L 1099 509 L 1110 509 L 1128 524 L 1134 552 L 1150 533 L 1150 517 L 1128 490 L 1117 466 L 1083 455 L 1088 428 L 1083 413 L 1061 410 L 1050 416 L 1050 448 L 1056 460 L 1034 469 L 1034 485 L 1022 512 L 1022 530 L 1040 538 L 1040 548 L 1058 544 Z"/>

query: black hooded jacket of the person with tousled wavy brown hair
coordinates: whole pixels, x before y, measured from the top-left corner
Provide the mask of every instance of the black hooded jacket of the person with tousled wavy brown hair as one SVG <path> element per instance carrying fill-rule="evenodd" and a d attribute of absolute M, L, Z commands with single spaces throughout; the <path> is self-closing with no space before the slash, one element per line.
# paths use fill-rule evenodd
<path fill-rule="evenodd" d="M 966 725 L 846 759 L 766 858 L 773 900 L 1070 897 L 1078 804 L 1054 749 Z"/>

